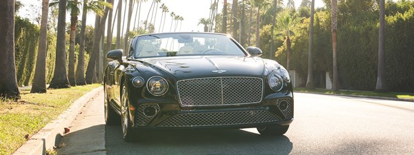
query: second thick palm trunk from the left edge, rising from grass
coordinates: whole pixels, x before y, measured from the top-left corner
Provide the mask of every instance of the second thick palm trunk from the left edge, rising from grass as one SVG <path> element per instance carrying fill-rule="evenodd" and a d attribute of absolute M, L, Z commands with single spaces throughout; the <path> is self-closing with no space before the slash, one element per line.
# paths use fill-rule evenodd
<path fill-rule="evenodd" d="M 49 0 L 43 0 L 41 3 L 39 48 L 37 50 L 36 69 L 34 70 L 32 90 L 30 90 L 30 93 L 46 93 L 46 37 L 48 34 L 48 14 Z"/>

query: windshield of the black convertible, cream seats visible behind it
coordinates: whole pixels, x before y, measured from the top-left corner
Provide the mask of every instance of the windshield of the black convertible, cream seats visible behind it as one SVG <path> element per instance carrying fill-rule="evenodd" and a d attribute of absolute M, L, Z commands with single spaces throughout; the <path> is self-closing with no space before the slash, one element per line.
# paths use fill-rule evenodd
<path fill-rule="evenodd" d="M 134 58 L 155 56 L 246 54 L 226 35 L 203 33 L 151 34 L 135 43 Z"/>

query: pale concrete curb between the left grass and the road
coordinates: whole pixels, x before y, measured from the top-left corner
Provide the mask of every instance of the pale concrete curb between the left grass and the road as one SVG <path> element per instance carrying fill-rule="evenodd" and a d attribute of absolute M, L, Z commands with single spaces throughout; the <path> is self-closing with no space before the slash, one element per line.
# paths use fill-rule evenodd
<path fill-rule="evenodd" d="M 68 127 L 81 111 L 83 105 L 94 99 L 99 92 L 103 91 L 103 87 L 97 87 L 70 105 L 68 110 L 57 116 L 57 119 L 48 123 L 37 134 L 34 134 L 29 141 L 26 141 L 13 155 L 37 155 L 46 154 L 46 150 L 53 149 L 64 132 L 64 127 Z"/>

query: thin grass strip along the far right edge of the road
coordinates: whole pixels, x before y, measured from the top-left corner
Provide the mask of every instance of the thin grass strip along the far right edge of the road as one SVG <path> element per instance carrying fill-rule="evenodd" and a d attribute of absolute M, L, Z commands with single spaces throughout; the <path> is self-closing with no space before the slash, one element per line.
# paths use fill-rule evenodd
<path fill-rule="evenodd" d="M 295 87 L 294 92 L 317 92 L 321 94 L 344 94 L 344 95 L 360 95 L 360 96 L 379 96 L 379 97 L 391 97 L 397 99 L 414 99 L 414 93 L 406 92 L 368 92 L 358 90 L 323 90 L 323 89 L 307 89 L 303 87 Z"/>

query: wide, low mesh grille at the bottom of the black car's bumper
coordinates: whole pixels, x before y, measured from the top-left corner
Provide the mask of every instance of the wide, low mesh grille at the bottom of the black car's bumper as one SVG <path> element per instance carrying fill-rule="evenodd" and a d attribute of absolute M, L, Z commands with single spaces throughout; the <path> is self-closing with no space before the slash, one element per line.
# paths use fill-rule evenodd
<path fill-rule="evenodd" d="M 184 113 L 171 116 L 159 127 L 209 127 L 220 125 L 248 125 L 268 123 L 280 119 L 266 110 L 246 110 L 234 112 Z"/>

